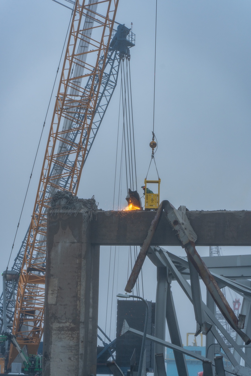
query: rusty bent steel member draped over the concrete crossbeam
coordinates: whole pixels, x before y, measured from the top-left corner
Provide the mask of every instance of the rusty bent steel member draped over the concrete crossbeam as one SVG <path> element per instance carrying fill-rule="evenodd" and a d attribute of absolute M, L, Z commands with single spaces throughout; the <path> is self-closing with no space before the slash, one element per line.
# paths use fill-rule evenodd
<path fill-rule="evenodd" d="M 233 310 L 231 309 L 230 305 L 228 304 L 227 300 L 222 294 L 222 291 L 220 290 L 215 278 L 212 276 L 207 266 L 202 261 L 201 257 L 199 256 L 198 252 L 195 249 L 195 241 L 197 240 L 197 236 L 194 230 L 192 229 L 192 226 L 190 225 L 190 222 L 186 216 L 186 206 L 180 206 L 180 208 L 176 210 L 174 206 L 170 204 L 169 201 L 164 200 L 161 202 L 157 210 L 157 213 L 154 217 L 154 220 L 152 221 L 151 226 L 149 228 L 148 235 L 138 254 L 134 267 L 132 268 L 132 272 L 126 284 L 125 291 L 131 292 L 132 288 L 135 285 L 135 282 L 137 280 L 138 274 L 140 273 L 143 262 L 145 261 L 146 255 L 148 253 L 148 250 L 151 244 L 152 237 L 158 226 L 163 210 L 166 212 L 167 220 L 169 221 L 172 229 L 175 231 L 181 243 L 181 246 L 186 250 L 187 257 L 190 263 L 195 268 L 195 270 L 191 268 L 192 269 L 191 285 L 193 284 L 194 281 L 196 281 L 195 272 L 197 271 L 199 276 L 203 280 L 205 286 L 207 287 L 207 290 L 213 297 L 216 305 L 218 306 L 218 308 L 220 309 L 220 311 L 222 312 L 222 314 L 224 315 L 228 323 L 239 334 L 239 336 L 243 339 L 245 344 L 249 344 L 251 342 L 250 338 L 248 337 L 248 335 L 246 335 L 244 332 L 240 330 L 236 315 L 234 314 Z M 196 288 L 196 286 L 192 287 L 193 294 L 198 293 L 197 290 L 198 289 Z M 198 330 L 196 331 L 196 334 L 199 334 L 201 329 L 206 334 L 210 330 L 210 325 L 207 324 L 203 320 L 204 314 L 203 314 L 203 310 L 201 309 L 199 299 L 197 300 L 197 302 L 199 306 L 195 307 L 195 314 L 196 314 L 196 319 L 199 322 L 197 321 Z"/>

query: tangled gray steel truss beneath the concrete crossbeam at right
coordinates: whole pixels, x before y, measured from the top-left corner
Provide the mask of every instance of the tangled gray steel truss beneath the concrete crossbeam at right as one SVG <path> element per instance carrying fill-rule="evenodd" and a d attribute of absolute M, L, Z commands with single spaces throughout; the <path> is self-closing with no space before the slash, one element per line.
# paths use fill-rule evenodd
<path fill-rule="evenodd" d="M 237 256 L 238 257 L 238 256 Z M 189 265 L 189 262 L 186 258 L 181 258 L 178 256 L 173 255 L 170 252 L 167 252 L 161 247 L 150 247 L 148 252 L 148 258 L 153 262 L 154 265 L 157 266 L 157 296 L 156 296 L 156 318 L 160 319 L 160 323 L 156 321 L 155 323 L 155 330 L 157 331 L 159 341 L 157 345 L 155 345 L 155 349 L 161 349 L 161 347 L 157 346 L 166 346 L 163 344 L 161 340 L 163 340 L 165 335 L 165 326 L 162 323 L 162 312 L 158 312 L 158 309 L 163 310 L 163 303 L 161 304 L 161 294 L 158 290 L 163 290 L 164 287 L 166 289 L 166 296 L 167 299 L 162 295 L 162 300 L 166 299 L 166 321 L 169 329 L 170 339 L 172 345 L 178 346 L 179 350 L 176 350 L 175 347 L 170 347 L 173 349 L 176 366 L 178 370 L 179 376 L 184 376 L 187 374 L 186 369 L 186 361 L 184 358 L 185 351 L 181 351 L 182 343 L 180 337 L 180 330 L 178 326 L 178 321 L 175 314 L 175 307 L 173 305 L 172 300 L 172 293 L 170 290 L 172 280 L 176 280 L 178 284 L 181 286 L 182 290 L 189 298 L 190 302 L 193 304 L 193 308 L 195 311 L 195 318 L 197 322 L 197 334 L 200 332 L 198 326 L 201 326 L 201 331 L 204 334 L 207 334 L 207 359 L 205 361 L 212 361 L 214 365 L 214 356 L 215 354 L 222 355 L 224 358 L 228 359 L 232 367 L 236 370 L 236 367 L 240 367 L 240 359 L 243 359 L 245 362 L 245 369 L 241 366 L 239 370 L 239 374 L 243 372 L 243 374 L 248 374 L 246 372 L 251 371 L 251 345 L 244 346 L 242 350 L 243 340 L 237 334 L 236 340 L 231 337 L 231 335 L 227 332 L 225 327 L 221 324 L 221 322 L 216 318 L 215 315 L 215 303 L 209 293 L 207 293 L 207 305 L 201 299 L 201 291 L 199 288 L 199 276 L 196 270 Z M 221 263 L 219 266 L 218 259 L 221 258 Z M 211 270 L 215 270 L 218 268 L 218 271 L 221 271 L 223 274 L 219 275 L 216 273 L 212 273 L 217 282 L 220 286 L 229 286 L 232 290 L 236 291 L 239 294 L 242 294 L 244 297 L 243 305 L 242 305 L 242 314 L 246 315 L 246 321 L 244 326 L 244 333 L 247 335 L 251 335 L 251 282 L 242 280 L 243 275 L 240 273 L 239 280 L 231 280 L 224 276 L 224 274 L 229 274 L 229 270 L 233 270 L 235 267 L 236 257 L 232 258 L 231 260 L 225 256 L 219 256 L 218 258 L 202 258 L 204 262 L 207 262 L 207 259 L 210 259 L 209 268 Z M 206 260 L 205 260 L 206 259 Z M 243 259 L 243 263 L 238 263 L 239 271 L 241 269 L 246 270 L 246 274 L 249 276 L 251 274 L 251 256 L 247 258 L 239 257 L 239 261 Z M 217 261 L 217 262 L 216 262 Z M 224 261 L 225 264 L 224 264 Z M 225 265 L 225 266 L 223 266 Z M 249 266 L 250 265 L 250 266 Z M 248 270 L 249 266 L 249 270 Z M 190 267 L 190 268 L 189 268 Z M 161 270 L 161 273 L 160 273 Z M 166 274 L 164 272 L 166 270 Z M 197 274 L 196 274 L 197 273 Z M 164 281 L 164 275 L 166 275 L 166 282 Z M 161 279 L 159 282 L 158 279 Z M 236 275 L 235 275 L 236 278 Z M 187 279 L 191 279 L 191 285 L 187 282 Z M 162 286 L 162 288 L 160 287 Z M 159 308 L 158 308 L 159 307 Z M 217 329 L 216 329 L 217 328 Z M 237 332 L 238 333 L 238 332 Z M 218 343 L 218 349 L 214 348 L 214 341 Z M 155 342 L 156 343 L 156 342 Z M 231 348 L 234 349 L 234 353 L 231 352 Z M 222 349 L 222 351 L 220 350 Z M 155 351 L 156 352 L 156 351 Z M 162 351 L 161 351 L 162 352 Z M 160 352 L 160 353 L 161 353 Z M 178 355 L 179 354 L 179 355 Z M 178 356 L 180 356 L 178 358 Z M 197 357 L 198 359 L 198 357 Z M 203 359 L 200 359 L 203 361 Z M 206 367 L 206 365 L 205 365 Z M 238 368 L 239 369 L 239 368 Z M 225 369 L 228 373 L 232 373 L 229 369 Z M 223 371 L 222 371 L 223 372 Z M 233 372 L 234 373 L 234 372 Z M 155 373 L 156 374 L 156 373 Z M 236 373 L 238 374 L 238 373 Z"/>

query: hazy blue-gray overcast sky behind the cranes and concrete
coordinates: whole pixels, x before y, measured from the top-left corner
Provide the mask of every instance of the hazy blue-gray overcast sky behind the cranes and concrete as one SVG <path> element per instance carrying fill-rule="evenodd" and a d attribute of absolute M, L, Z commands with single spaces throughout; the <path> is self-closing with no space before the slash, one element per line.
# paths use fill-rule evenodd
<path fill-rule="evenodd" d="M 2 270 L 8 263 L 70 14 L 69 9 L 52 0 L 0 1 Z M 251 209 L 250 18 L 248 0 L 158 0 L 155 159 L 161 177 L 161 200 L 170 200 L 176 208 L 186 205 L 190 210 Z M 151 158 L 155 2 L 120 0 L 116 20 L 128 27 L 132 23 L 136 35 L 130 64 L 137 180 L 141 186 Z M 29 226 L 55 95 L 10 266 Z M 78 191 L 79 197 L 94 195 L 99 208 L 104 210 L 113 207 L 118 118 L 117 87 L 84 166 Z M 126 189 L 123 195 L 126 196 Z M 185 255 L 181 247 L 169 248 Z M 250 252 L 249 248 L 240 247 L 224 247 L 222 251 L 226 255 Z M 110 274 L 113 274 L 114 252 L 112 249 Z M 209 254 L 208 247 L 198 247 L 198 252 L 202 256 Z M 103 328 L 109 259 L 110 247 L 102 247 L 99 325 Z M 126 285 L 127 263 L 128 249 L 117 249 L 112 339 L 116 293 L 123 292 Z M 155 301 L 156 270 L 148 259 L 143 279 L 145 297 Z M 109 289 L 108 316 L 111 281 Z M 186 333 L 194 332 L 196 323 L 192 307 L 183 299 L 175 282 L 172 290 L 185 344 Z M 231 297 L 229 301 L 231 304 Z M 185 303 L 189 308 L 185 308 Z M 109 332 L 110 316 L 108 321 Z"/>

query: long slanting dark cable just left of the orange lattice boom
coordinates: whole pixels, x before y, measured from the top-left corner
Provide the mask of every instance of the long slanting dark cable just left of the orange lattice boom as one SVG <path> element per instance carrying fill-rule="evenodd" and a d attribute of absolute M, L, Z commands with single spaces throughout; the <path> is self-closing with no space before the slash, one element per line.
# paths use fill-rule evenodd
<path fill-rule="evenodd" d="M 39 147 L 40 147 L 40 143 L 41 143 L 41 139 L 42 139 L 42 135 L 43 135 L 43 131 L 44 131 L 44 126 L 45 126 L 45 122 L 46 122 L 47 115 L 48 115 L 48 111 L 49 111 L 49 107 L 50 107 L 50 102 L 51 102 L 51 100 L 52 100 L 52 94 L 53 94 L 53 90 L 54 90 L 54 88 L 55 88 L 56 78 L 57 78 L 57 76 L 58 76 L 59 66 L 60 66 L 60 63 L 61 63 L 62 56 L 63 56 L 64 47 L 65 47 L 65 42 L 66 42 L 66 39 L 67 39 L 67 35 L 68 35 L 69 28 L 70 28 L 70 24 L 71 24 L 71 18 L 72 18 L 72 15 L 73 15 L 73 9 L 71 9 L 71 11 L 72 11 L 72 12 L 71 12 L 71 17 L 70 17 L 70 22 L 69 22 L 69 24 L 68 24 L 68 29 L 67 29 L 67 32 L 66 32 L 66 35 L 65 35 L 64 45 L 63 45 L 62 52 L 61 52 L 61 56 L 60 56 L 60 59 L 59 59 L 58 69 L 57 69 L 57 71 L 56 71 L 56 76 L 55 76 L 55 80 L 54 80 L 54 83 L 53 83 L 52 92 L 51 92 L 51 94 L 50 94 L 49 104 L 48 104 L 47 111 L 46 111 L 46 115 L 45 115 L 45 118 L 44 118 L 44 124 L 43 124 L 43 127 L 42 127 L 42 131 L 41 131 L 40 139 L 39 139 L 39 141 L 38 141 L 38 147 L 37 147 L 37 151 L 36 151 L 36 154 L 35 154 L 35 159 L 34 159 L 34 162 L 33 162 L 33 165 L 32 165 L 32 170 L 31 170 L 31 173 L 30 173 L 30 178 L 29 178 L 29 182 L 28 182 L 27 189 L 26 189 L 26 194 L 25 194 L 25 196 L 24 196 L 23 206 L 22 206 L 22 209 L 21 209 L 21 214 L 20 214 L 20 217 L 19 217 L 19 220 L 18 220 L 18 224 L 17 224 L 17 230 L 16 230 L 16 232 L 15 232 L 15 237 L 14 237 L 14 241 L 13 241 L 12 248 L 11 248 L 11 254 L 12 254 L 12 250 L 13 250 L 13 248 L 14 248 L 14 244 L 15 244 L 16 237 L 17 237 L 18 227 L 19 227 L 19 225 L 20 225 L 21 216 L 22 216 L 22 214 L 23 214 L 23 208 L 24 208 L 24 204 L 25 204 L 25 201 L 26 201 L 27 193 L 28 193 L 28 190 L 29 190 L 30 180 L 31 180 L 31 177 L 32 177 L 32 173 L 33 173 L 33 169 L 34 169 L 34 166 L 35 166 L 35 162 L 36 162 L 36 160 L 37 160 L 38 150 L 39 150 Z M 6 270 L 8 270 L 8 267 L 9 267 L 9 262 L 10 262 L 10 259 L 11 259 L 11 254 L 10 254 L 10 256 L 9 256 L 9 261 L 8 261 L 8 265 L 7 265 Z"/>

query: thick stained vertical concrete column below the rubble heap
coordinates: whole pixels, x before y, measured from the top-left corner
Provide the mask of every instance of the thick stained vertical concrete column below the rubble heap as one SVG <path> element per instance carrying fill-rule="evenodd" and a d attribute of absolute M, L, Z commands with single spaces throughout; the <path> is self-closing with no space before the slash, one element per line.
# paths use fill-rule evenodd
<path fill-rule="evenodd" d="M 99 246 L 90 215 L 48 214 L 44 376 L 96 375 Z"/>

